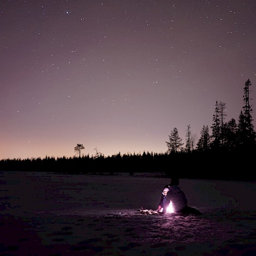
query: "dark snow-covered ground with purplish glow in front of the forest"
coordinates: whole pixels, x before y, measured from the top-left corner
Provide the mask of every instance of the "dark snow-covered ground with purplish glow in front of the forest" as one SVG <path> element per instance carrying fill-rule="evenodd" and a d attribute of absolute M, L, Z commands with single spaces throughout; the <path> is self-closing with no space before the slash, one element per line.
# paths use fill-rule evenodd
<path fill-rule="evenodd" d="M 0 173 L 0 255 L 256 255 L 256 183 L 180 179 L 201 216 L 147 215 L 168 178 Z"/>

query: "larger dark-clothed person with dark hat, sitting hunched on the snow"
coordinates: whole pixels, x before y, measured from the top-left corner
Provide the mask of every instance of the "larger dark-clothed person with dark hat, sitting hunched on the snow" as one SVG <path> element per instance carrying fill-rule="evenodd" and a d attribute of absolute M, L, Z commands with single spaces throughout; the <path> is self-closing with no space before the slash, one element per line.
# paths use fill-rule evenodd
<path fill-rule="evenodd" d="M 196 210 L 195 208 L 189 207 L 187 205 L 188 200 L 185 193 L 180 189 L 179 184 L 180 182 L 178 178 L 173 177 L 171 179 L 171 183 L 167 186 L 169 191 L 167 192 L 165 197 L 165 204 L 162 213 L 166 212 L 171 201 L 175 213 L 182 213 L 185 215 L 201 215 L 202 213 L 199 210 Z"/>

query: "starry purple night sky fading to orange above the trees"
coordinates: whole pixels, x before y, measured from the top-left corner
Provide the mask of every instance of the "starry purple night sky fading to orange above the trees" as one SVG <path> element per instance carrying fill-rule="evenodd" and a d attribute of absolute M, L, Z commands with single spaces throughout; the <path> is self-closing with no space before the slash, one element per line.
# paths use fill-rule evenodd
<path fill-rule="evenodd" d="M 0 159 L 166 152 L 173 128 L 183 143 L 210 128 L 216 101 L 238 123 L 247 79 L 256 119 L 255 0 L 0 7 Z"/>

